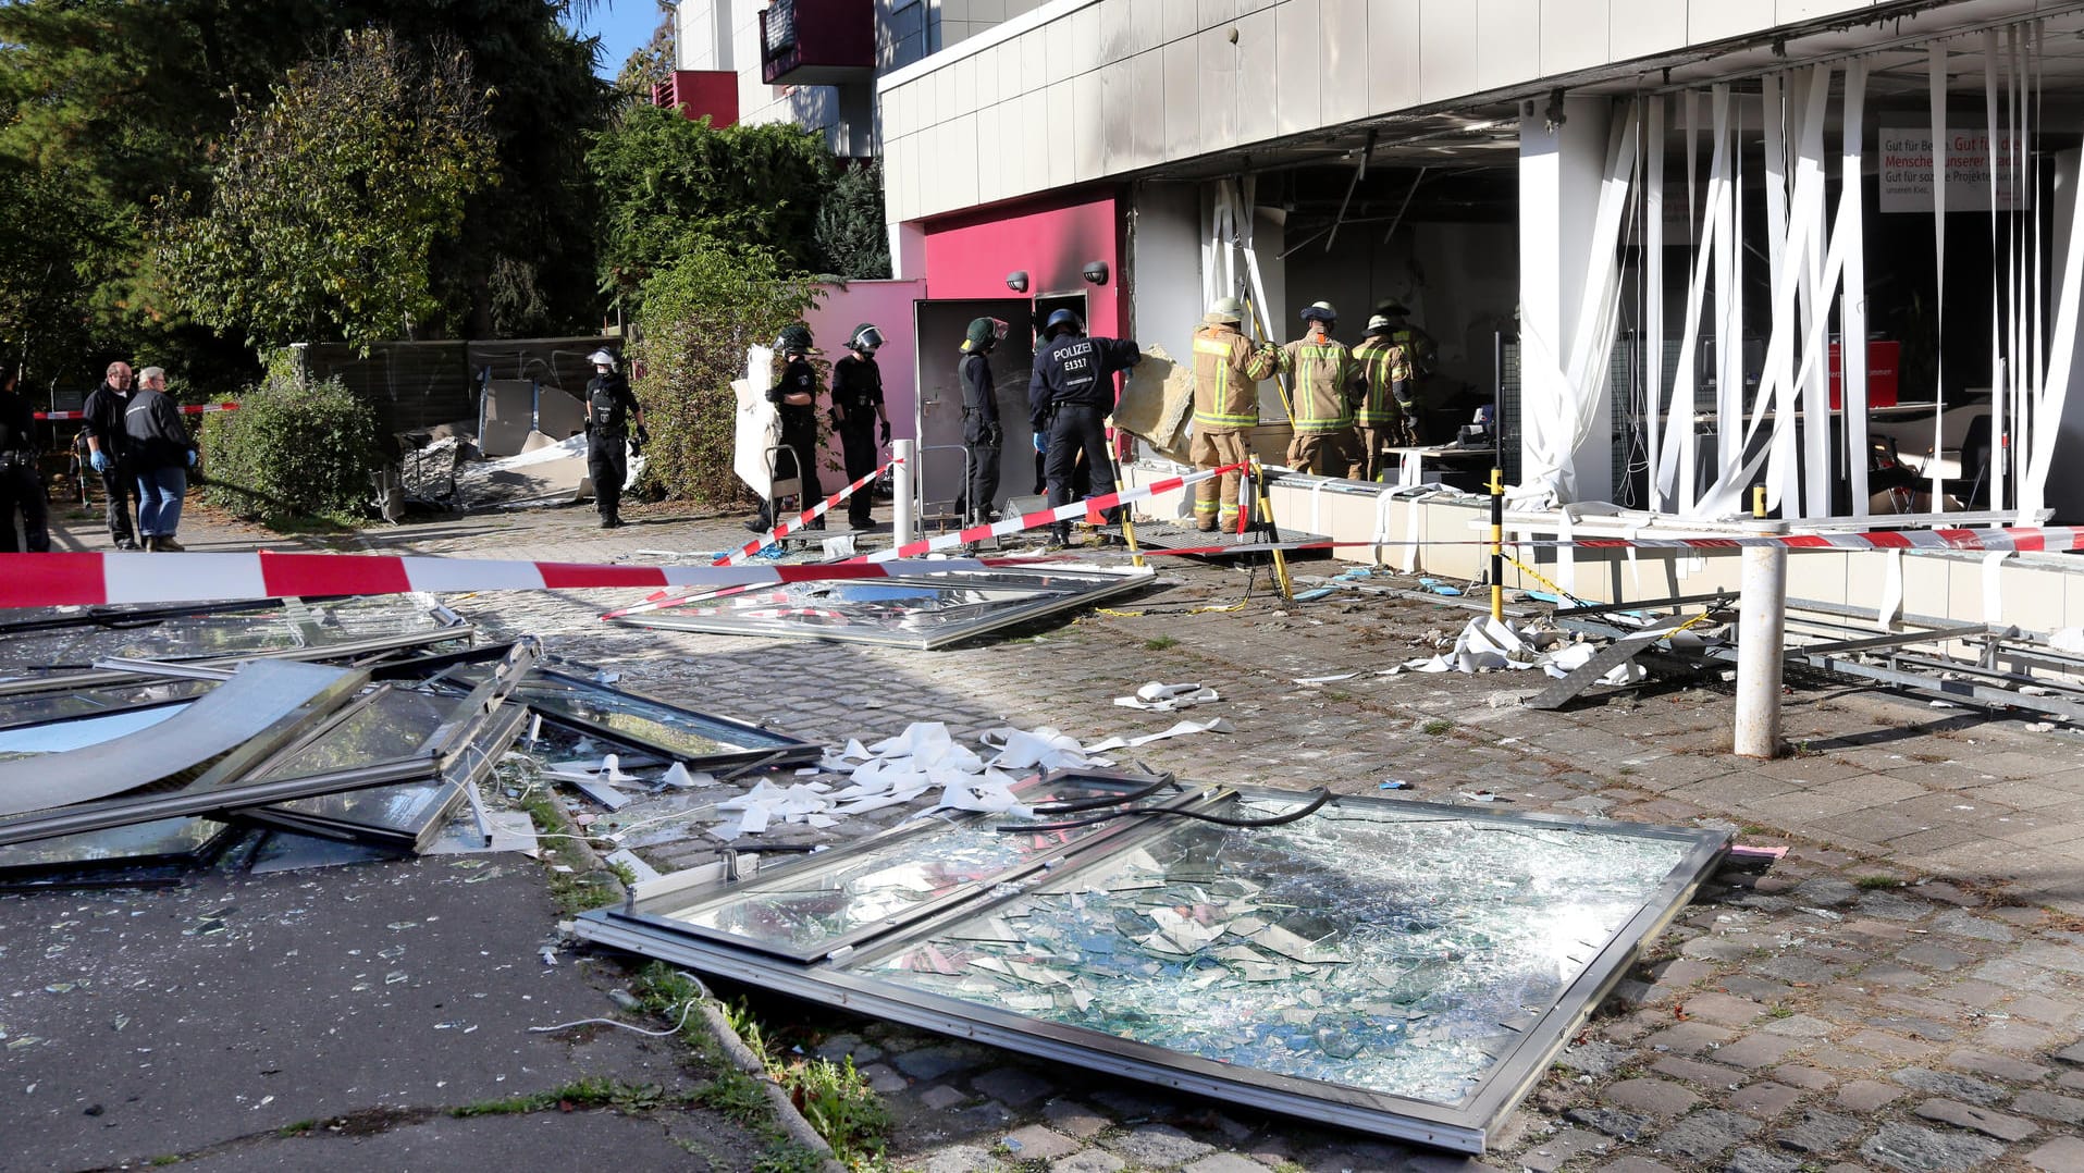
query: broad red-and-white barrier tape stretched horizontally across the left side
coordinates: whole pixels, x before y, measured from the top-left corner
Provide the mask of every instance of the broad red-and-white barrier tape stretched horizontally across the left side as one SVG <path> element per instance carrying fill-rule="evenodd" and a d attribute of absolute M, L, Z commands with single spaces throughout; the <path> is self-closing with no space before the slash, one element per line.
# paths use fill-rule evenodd
<path fill-rule="evenodd" d="M 936 571 L 979 571 L 975 558 Z M 210 602 L 323 594 L 479 590 L 729 588 L 886 579 L 919 567 L 819 563 L 794 567 L 619 567 L 390 554 L 0 554 L 0 606 Z"/>

